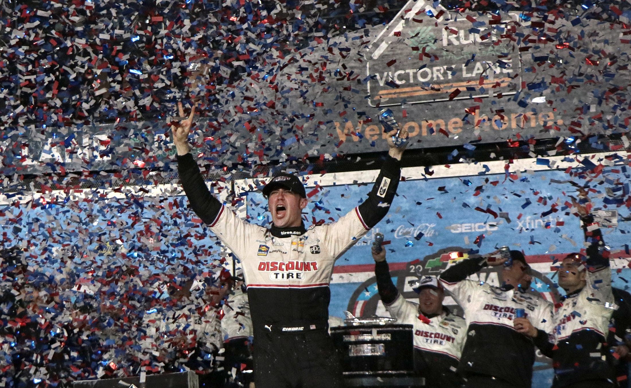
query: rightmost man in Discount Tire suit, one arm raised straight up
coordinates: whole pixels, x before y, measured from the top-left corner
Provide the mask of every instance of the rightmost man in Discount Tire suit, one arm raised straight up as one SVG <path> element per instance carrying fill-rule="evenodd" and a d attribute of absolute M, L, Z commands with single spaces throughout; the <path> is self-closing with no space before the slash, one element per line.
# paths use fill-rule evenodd
<path fill-rule="evenodd" d="M 614 344 L 609 326 L 615 305 L 609 252 L 603 250 L 603 236 L 593 216 L 585 214 L 581 219 L 585 239 L 590 242 L 587 257 L 570 253 L 559 266 L 558 285 L 565 290 L 565 297 L 554 314 L 553 331 L 534 328 L 528 319 L 516 319 L 515 324 L 552 358 L 553 387 L 614 387 L 609 346 Z M 548 340 L 549 333 L 553 341 Z"/>

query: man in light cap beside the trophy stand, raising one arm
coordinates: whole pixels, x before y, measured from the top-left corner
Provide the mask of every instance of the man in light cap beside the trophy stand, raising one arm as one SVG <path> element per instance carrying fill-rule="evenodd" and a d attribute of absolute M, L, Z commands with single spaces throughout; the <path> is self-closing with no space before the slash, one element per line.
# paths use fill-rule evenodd
<path fill-rule="evenodd" d="M 456 368 L 466 339 L 464 319 L 442 305 L 445 293 L 435 277 L 422 277 L 415 287 L 418 305 L 399 293 L 386 262 L 386 249 L 372 247 L 375 276 L 381 301 L 390 315 L 414 326 L 414 364 L 416 373 L 432 388 L 460 388 L 463 384 Z"/>

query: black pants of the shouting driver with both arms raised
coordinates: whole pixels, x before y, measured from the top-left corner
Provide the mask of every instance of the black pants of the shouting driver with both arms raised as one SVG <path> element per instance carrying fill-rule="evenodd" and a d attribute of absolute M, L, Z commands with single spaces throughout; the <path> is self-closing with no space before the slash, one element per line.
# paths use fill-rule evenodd
<path fill-rule="evenodd" d="M 338 351 L 326 330 L 254 335 L 256 388 L 343 388 Z"/>

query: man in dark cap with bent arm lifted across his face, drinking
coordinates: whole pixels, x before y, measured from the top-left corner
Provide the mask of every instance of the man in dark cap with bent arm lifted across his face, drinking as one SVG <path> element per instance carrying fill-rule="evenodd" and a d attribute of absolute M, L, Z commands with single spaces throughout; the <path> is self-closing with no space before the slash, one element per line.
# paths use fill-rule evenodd
<path fill-rule="evenodd" d="M 463 307 L 467 339 L 458 366 L 468 388 L 529 388 L 533 378 L 533 341 L 513 325 L 517 309 L 538 328 L 550 328 L 552 305 L 528 294 L 522 285 L 531 282 L 529 266 L 520 251 L 510 258 L 487 256 L 463 260 L 440 275 L 442 285 Z M 466 277 L 486 265 L 504 265 L 501 287 Z"/>

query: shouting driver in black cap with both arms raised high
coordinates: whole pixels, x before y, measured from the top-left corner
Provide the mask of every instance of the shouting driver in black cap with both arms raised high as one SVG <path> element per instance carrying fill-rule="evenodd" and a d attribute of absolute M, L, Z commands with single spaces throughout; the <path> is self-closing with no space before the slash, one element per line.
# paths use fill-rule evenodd
<path fill-rule="evenodd" d="M 184 115 L 181 103 L 180 116 Z M 237 256 L 244 268 L 252 326 L 257 388 L 341 387 L 339 358 L 327 333 L 335 261 L 386 215 L 401 174 L 406 130 L 389 133 L 389 152 L 365 202 L 338 222 L 305 228 L 305 188 L 279 174 L 263 188 L 271 227 L 251 225 L 213 197 L 189 153 L 194 109 L 172 126 L 180 180 L 191 208 Z M 394 139 L 392 139 L 394 137 Z"/>

